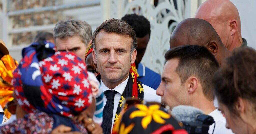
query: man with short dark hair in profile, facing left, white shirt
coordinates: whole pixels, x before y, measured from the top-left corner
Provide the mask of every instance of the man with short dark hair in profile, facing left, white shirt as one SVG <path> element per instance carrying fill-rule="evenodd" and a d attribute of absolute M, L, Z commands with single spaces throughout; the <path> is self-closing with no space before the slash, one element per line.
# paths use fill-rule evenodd
<path fill-rule="evenodd" d="M 206 47 L 183 45 L 172 48 L 165 54 L 166 63 L 162 81 L 156 90 L 161 103 L 170 108 L 190 105 L 204 111 L 216 122 L 214 133 L 231 133 L 225 128 L 225 117 L 214 106 L 212 77 L 219 64 Z M 213 125 L 209 133 L 213 131 Z"/>

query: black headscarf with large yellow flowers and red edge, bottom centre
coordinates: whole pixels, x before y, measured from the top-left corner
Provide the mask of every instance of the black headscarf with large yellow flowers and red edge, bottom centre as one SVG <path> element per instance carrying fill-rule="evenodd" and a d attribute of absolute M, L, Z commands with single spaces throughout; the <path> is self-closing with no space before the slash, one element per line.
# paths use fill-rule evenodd
<path fill-rule="evenodd" d="M 187 134 L 159 104 L 135 104 L 117 116 L 113 134 L 175 133 Z"/>

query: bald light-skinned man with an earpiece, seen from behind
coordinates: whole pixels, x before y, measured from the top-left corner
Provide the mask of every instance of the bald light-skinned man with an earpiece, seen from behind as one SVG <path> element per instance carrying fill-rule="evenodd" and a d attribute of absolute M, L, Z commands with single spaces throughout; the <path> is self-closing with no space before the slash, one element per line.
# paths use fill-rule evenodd
<path fill-rule="evenodd" d="M 207 0 L 197 9 L 195 18 L 208 21 L 229 51 L 247 47 L 247 41 L 241 35 L 238 10 L 229 0 Z"/>

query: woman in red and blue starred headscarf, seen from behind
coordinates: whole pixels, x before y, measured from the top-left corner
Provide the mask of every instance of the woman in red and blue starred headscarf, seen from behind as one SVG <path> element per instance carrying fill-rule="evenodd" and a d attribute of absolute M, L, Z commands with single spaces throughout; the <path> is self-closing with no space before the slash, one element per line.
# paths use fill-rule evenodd
<path fill-rule="evenodd" d="M 54 44 L 46 41 L 24 48 L 22 55 L 13 73 L 16 115 L 21 118 L 1 127 L 2 133 L 50 133 L 60 124 L 87 133 L 81 122 L 70 119 L 95 104 L 83 60 L 55 52 Z M 93 113 L 95 108 L 90 109 Z M 97 124 L 88 120 L 95 129 Z"/>

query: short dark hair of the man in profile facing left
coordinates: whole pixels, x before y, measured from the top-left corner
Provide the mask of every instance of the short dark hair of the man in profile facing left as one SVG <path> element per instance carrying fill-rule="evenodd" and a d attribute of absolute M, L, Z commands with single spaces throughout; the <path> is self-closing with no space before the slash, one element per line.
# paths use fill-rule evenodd
<path fill-rule="evenodd" d="M 174 58 L 179 60 L 175 71 L 179 75 L 182 84 L 184 84 L 190 76 L 194 75 L 200 81 L 205 97 L 209 101 L 214 100 L 212 78 L 219 68 L 219 64 L 214 55 L 203 46 L 182 45 L 166 52 L 166 60 Z"/>

